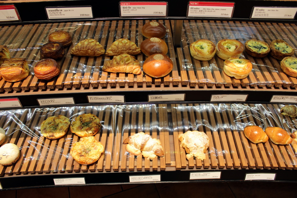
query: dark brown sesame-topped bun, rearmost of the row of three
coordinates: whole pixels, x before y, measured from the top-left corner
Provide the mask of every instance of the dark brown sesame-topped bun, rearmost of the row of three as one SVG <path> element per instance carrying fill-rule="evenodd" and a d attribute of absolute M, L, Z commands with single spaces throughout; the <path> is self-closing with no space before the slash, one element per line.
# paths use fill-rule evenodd
<path fill-rule="evenodd" d="M 146 38 L 157 37 L 162 39 L 166 34 L 166 28 L 157 21 L 150 21 L 142 26 L 141 33 Z"/>

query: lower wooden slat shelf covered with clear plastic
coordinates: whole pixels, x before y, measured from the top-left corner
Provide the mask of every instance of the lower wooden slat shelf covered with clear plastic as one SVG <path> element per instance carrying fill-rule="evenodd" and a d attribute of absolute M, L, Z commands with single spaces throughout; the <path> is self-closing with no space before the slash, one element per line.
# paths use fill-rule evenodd
<path fill-rule="evenodd" d="M 297 158 L 292 145 L 276 145 L 270 140 L 266 143 L 254 144 L 243 134 L 243 129 L 247 125 L 257 125 L 264 129 L 268 126 L 279 126 L 288 133 L 295 132 L 296 118 L 280 114 L 282 106 L 277 104 L 131 104 L 1 111 L 1 127 L 7 134 L 4 144 L 15 143 L 20 148 L 21 155 L 15 164 L 0 166 L 0 182 L 5 183 L 6 179 L 19 179 L 22 176 L 51 175 L 49 178 L 67 178 L 78 173 L 127 172 L 123 175 L 147 175 L 171 172 L 173 175 L 181 175 L 188 174 L 188 171 L 206 170 L 222 172 L 237 170 L 245 173 L 290 170 L 291 174 L 294 174 L 294 170 L 297 169 Z M 72 143 L 80 138 L 70 130 L 58 140 L 49 140 L 40 136 L 40 125 L 46 118 L 65 115 L 72 120 L 83 113 L 97 115 L 102 124 L 95 138 L 104 145 L 105 153 L 91 165 L 80 165 L 72 159 L 69 150 Z M 184 148 L 179 146 L 178 134 L 188 130 L 203 131 L 210 138 L 205 160 L 186 159 Z M 122 142 L 138 132 L 145 132 L 158 138 L 165 156 L 147 160 L 142 156 L 134 156 L 126 152 Z M 100 175 L 93 176 L 100 177 Z M 92 176 L 90 174 L 87 177 Z M 185 175 L 181 176 L 181 178 L 184 177 Z M 176 178 L 176 181 L 178 179 Z M 242 180 L 244 178 L 239 179 L 237 176 L 232 178 L 229 175 L 222 179 Z M 117 179 L 113 178 L 113 181 L 116 183 Z M 98 183 L 101 182 L 98 181 Z"/>

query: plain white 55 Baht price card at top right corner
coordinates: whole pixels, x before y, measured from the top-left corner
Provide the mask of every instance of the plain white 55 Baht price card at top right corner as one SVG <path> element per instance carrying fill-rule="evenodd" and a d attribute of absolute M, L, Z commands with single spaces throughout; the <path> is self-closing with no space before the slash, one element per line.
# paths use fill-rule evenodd
<path fill-rule="evenodd" d="M 297 7 L 253 7 L 250 18 L 294 19 Z"/>

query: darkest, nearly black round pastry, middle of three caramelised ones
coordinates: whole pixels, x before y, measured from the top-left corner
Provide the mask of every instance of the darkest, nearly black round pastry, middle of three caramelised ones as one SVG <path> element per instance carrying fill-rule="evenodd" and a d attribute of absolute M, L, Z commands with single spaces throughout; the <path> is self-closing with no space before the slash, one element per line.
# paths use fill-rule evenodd
<path fill-rule="evenodd" d="M 52 58 L 58 60 L 65 55 L 64 47 L 59 42 L 46 43 L 40 47 L 40 59 Z"/>

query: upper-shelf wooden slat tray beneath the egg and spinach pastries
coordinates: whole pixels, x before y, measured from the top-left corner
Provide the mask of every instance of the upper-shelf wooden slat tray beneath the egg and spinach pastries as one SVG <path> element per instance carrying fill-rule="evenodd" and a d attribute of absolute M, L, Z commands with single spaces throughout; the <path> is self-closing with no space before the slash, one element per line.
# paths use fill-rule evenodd
<path fill-rule="evenodd" d="M 198 39 L 217 42 L 221 39 L 236 39 L 243 44 L 249 39 L 271 43 L 274 39 L 283 39 L 293 48 L 297 47 L 296 25 L 283 23 L 258 23 L 238 21 L 184 20 L 182 48 L 177 49 L 180 62 L 181 81 L 189 80 L 189 86 L 259 86 L 259 87 L 296 87 L 295 77 L 287 76 L 280 68 L 280 61 L 266 56 L 254 58 L 242 53 L 241 58 L 249 59 L 253 64 L 247 78 L 237 80 L 223 72 L 224 60 L 217 55 L 210 61 L 198 61 L 189 52 L 189 45 Z M 296 56 L 293 55 L 294 57 Z"/>

